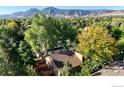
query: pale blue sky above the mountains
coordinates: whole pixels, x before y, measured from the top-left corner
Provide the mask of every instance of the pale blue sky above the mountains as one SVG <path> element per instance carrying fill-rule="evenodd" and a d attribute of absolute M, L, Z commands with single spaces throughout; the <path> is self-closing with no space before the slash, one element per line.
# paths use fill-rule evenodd
<path fill-rule="evenodd" d="M 0 6 L 1 14 L 11 14 L 14 12 L 26 11 L 30 8 L 42 9 L 45 6 Z M 111 10 L 124 10 L 124 6 L 56 6 L 60 9 L 111 9 Z"/>

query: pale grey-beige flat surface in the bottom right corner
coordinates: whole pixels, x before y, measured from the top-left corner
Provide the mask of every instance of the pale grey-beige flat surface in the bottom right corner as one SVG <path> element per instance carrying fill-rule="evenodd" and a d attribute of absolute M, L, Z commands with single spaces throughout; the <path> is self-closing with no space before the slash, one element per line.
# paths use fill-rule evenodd
<path fill-rule="evenodd" d="M 124 61 L 115 61 L 94 73 L 93 76 L 124 76 Z"/>

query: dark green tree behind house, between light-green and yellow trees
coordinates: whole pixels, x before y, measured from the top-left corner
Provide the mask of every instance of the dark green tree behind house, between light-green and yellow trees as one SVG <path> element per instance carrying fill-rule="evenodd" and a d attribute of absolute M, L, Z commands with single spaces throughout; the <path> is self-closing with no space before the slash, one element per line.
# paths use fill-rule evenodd
<path fill-rule="evenodd" d="M 75 24 L 75 20 L 73 19 L 59 19 L 59 32 L 58 36 L 59 41 L 61 41 L 62 46 L 68 49 L 68 45 L 70 47 L 73 46 L 74 43 L 77 43 L 77 29 L 78 26 Z M 76 23 L 77 24 L 77 23 Z M 70 44 L 69 44 L 70 43 Z"/>

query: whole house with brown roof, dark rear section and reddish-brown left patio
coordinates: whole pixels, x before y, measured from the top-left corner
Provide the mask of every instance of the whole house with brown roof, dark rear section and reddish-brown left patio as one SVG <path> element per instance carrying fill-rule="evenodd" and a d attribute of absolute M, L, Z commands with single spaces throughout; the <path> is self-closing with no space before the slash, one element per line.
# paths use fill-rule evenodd
<path fill-rule="evenodd" d="M 82 55 L 75 51 L 67 51 L 63 47 L 57 47 L 49 49 L 45 52 L 41 52 L 43 59 L 37 66 L 37 72 L 41 75 L 55 75 L 60 76 L 60 69 L 64 67 L 64 64 L 70 62 L 74 71 L 80 70 L 82 64 Z"/>

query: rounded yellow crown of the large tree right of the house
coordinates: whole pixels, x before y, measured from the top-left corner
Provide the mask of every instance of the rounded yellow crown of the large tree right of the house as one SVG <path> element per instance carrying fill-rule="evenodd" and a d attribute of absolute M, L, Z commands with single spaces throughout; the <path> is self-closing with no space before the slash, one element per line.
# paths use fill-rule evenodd
<path fill-rule="evenodd" d="M 117 51 L 116 40 L 103 27 L 91 26 L 78 34 L 77 50 L 90 61 L 110 61 Z"/>

